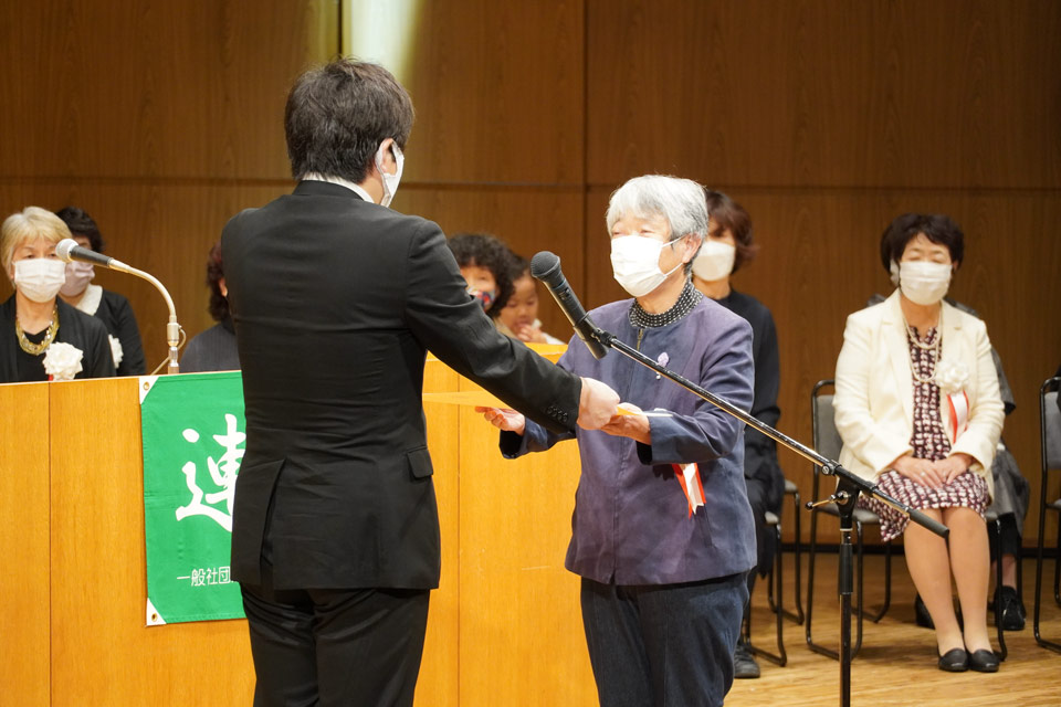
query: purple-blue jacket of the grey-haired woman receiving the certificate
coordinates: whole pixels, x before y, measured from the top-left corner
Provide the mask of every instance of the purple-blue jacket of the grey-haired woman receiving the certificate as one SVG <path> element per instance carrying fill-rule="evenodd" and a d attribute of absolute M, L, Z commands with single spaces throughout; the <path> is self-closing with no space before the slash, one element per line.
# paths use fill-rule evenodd
<path fill-rule="evenodd" d="M 593 310 L 593 320 L 637 345 L 631 299 Z M 752 328 L 707 299 L 679 321 L 645 329 L 640 350 L 742 410 L 752 407 Z M 755 528 L 744 482 L 744 423 L 617 351 L 597 360 L 577 338 L 559 365 L 611 386 L 649 418 L 652 445 L 603 432 L 553 434 L 529 420 L 523 436 L 502 433 L 513 458 L 576 436 L 582 473 L 565 566 L 617 584 L 673 584 L 725 577 L 755 566 Z M 705 506 L 689 517 L 671 464 L 696 462 Z"/>

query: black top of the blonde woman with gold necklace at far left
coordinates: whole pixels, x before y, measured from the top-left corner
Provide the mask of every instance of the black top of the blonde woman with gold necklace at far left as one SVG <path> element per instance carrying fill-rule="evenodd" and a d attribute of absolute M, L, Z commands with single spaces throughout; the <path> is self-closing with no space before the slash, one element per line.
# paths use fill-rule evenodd
<path fill-rule="evenodd" d="M 11 295 L 0 305 L 0 383 L 23 383 L 48 380 L 44 371 L 44 354 L 31 356 L 19 346 L 14 331 L 15 302 Z M 111 341 L 107 328 L 98 319 L 56 299 L 59 307 L 59 333 L 56 341 L 70 344 L 82 351 L 81 372 L 75 379 L 106 378 L 114 376 L 114 359 L 111 355 Z M 31 341 L 40 342 L 44 333 L 27 335 Z"/>

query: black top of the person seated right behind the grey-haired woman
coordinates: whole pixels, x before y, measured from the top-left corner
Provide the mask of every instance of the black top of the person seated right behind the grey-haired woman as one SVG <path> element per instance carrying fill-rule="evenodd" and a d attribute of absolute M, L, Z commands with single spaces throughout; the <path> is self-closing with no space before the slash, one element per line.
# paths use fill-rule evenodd
<path fill-rule="evenodd" d="M 752 325 L 755 400 L 752 402 L 750 412 L 753 418 L 776 428 L 781 416 L 781 410 L 777 407 L 781 374 L 774 317 L 761 302 L 736 289 L 731 289 L 728 295 L 715 302 L 740 315 Z M 757 478 L 768 486 L 768 504 L 777 511 L 785 494 L 785 474 L 777 461 L 777 443 L 758 430 L 746 428 L 744 444 L 744 475 Z"/>

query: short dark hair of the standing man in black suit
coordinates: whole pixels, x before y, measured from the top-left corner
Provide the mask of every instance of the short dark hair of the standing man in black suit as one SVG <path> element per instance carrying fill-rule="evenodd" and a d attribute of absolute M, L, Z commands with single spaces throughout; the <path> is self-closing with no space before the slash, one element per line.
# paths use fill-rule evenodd
<path fill-rule="evenodd" d="M 284 131 L 291 173 L 365 180 L 379 144 L 406 148 L 412 101 L 379 64 L 340 59 L 307 71 L 291 89 Z"/>

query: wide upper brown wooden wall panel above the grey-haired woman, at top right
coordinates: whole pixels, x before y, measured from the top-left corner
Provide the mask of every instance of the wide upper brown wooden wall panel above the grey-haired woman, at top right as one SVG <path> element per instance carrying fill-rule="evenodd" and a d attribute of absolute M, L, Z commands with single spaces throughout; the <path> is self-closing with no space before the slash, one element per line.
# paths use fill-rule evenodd
<path fill-rule="evenodd" d="M 587 0 L 587 179 L 1061 186 L 1049 0 Z"/>

